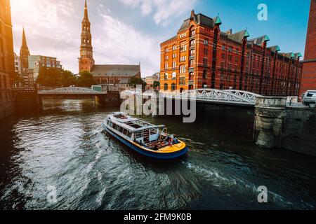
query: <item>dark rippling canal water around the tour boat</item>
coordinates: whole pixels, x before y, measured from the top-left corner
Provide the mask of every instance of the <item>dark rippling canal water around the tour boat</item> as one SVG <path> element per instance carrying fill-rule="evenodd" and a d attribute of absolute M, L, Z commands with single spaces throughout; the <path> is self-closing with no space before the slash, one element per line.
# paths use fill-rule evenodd
<path fill-rule="evenodd" d="M 257 148 L 254 111 L 208 106 L 197 121 L 164 124 L 190 148 L 157 161 L 107 136 L 117 109 L 46 100 L 0 127 L 0 209 L 315 209 L 316 158 Z M 258 203 L 258 187 L 268 203 Z"/>

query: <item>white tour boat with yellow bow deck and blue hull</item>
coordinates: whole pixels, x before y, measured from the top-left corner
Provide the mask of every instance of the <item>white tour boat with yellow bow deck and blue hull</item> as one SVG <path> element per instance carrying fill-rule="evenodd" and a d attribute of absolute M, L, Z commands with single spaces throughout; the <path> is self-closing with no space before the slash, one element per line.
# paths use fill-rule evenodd
<path fill-rule="evenodd" d="M 111 113 L 102 126 L 121 143 L 151 158 L 179 158 L 188 150 L 183 141 L 167 134 L 164 125 L 152 125 L 126 113 Z"/>

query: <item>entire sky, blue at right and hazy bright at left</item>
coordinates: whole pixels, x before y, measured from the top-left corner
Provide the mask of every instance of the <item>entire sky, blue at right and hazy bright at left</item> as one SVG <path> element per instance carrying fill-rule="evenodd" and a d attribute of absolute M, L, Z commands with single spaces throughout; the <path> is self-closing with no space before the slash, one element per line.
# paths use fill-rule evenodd
<path fill-rule="evenodd" d="M 248 29 L 270 37 L 282 52 L 305 50 L 310 0 L 87 0 L 96 64 L 141 64 L 142 76 L 159 71 L 159 44 L 176 35 L 190 11 L 220 16 L 222 31 Z M 268 20 L 258 20 L 258 5 Z M 84 0 L 11 0 L 13 41 L 19 54 L 25 27 L 31 55 L 57 57 L 78 73 Z"/>

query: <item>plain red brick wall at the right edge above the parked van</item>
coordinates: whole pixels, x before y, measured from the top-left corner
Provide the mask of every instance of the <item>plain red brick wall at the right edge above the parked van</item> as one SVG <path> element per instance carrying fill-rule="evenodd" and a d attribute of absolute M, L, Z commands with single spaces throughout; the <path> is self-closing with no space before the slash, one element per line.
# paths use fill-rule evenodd
<path fill-rule="evenodd" d="M 316 0 L 310 2 L 301 94 L 307 90 L 316 90 Z"/>

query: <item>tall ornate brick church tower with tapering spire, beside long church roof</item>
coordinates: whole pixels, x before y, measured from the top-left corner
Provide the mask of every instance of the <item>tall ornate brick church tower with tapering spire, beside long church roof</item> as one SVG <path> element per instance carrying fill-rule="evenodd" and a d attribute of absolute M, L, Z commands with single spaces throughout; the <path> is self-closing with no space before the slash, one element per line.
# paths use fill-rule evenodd
<path fill-rule="evenodd" d="M 88 19 L 88 8 L 86 0 L 84 4 L 84 20 L 81 22 L 81 45 L 79 57 L 79 72 L 91 71 L 94 66 L 93 48 L 91 41 L 91 23 Z"/>

